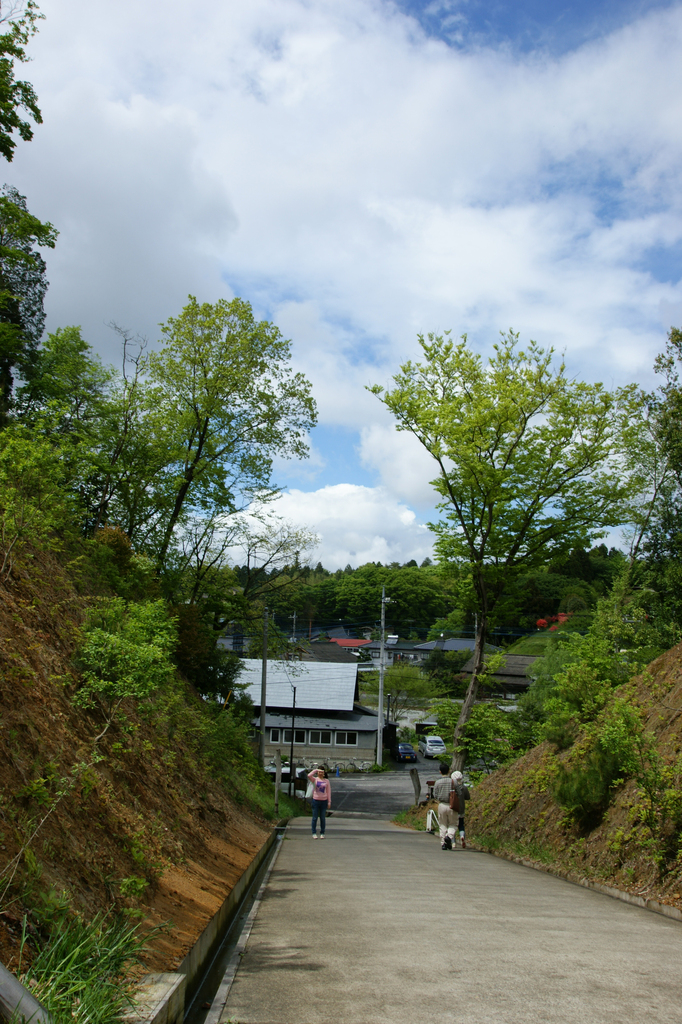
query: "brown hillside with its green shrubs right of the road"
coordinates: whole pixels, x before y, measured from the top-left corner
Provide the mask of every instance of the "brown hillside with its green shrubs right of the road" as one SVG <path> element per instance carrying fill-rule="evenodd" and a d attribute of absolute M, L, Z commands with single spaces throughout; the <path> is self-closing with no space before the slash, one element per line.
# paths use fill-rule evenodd
<path fill-rule="evenodd" d="M 603 759 L 615 758 L 625 743 L 623 728 L 615 728 L 624 709 L 638 729 L 626 737 L 628 757 L 611 779 L 607 806 L 581 806 L 581 784 L 586 803 L 594 785 L 595 737 Z M 469 835 L 483 848 L 682 907 L 681 751 L 682 644 L 615 689 L 599 721 L 567 750 L 543 742 L 483 778 L 472 796 Z M 555 799 L 562 778 L 577 783 L 572 809 L 565 797 L 563 806 Z"/>

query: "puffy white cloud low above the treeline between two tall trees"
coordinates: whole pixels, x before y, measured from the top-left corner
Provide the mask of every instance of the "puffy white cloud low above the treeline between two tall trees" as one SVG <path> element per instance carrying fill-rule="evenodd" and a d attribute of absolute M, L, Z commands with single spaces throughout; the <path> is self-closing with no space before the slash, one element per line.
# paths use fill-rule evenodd
<path fill-rule="evenodd" d="M 313 559 L 338 569 L 365 562 L 422 562 L 433 554 L 433 535 L 415 513 L 383 487 L 337 483 L 291 490 L 272 505 L 276 515 L 319 537 Z"/>

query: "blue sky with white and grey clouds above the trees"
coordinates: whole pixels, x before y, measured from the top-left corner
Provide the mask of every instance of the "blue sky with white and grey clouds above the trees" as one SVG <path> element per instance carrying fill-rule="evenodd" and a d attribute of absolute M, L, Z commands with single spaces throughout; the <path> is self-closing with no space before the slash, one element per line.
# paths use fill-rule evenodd
<path fill-rule="evenodd" d="M 434 475 L 367 385 L 513 328 L 613 386 L 682 324 L 682 4 L 43 0 L 5 180 L 59 229 L 48 330 L 159 339 L 240 295 L 312 381 L 279 512 L 329 568 L 421 561 Z"/>

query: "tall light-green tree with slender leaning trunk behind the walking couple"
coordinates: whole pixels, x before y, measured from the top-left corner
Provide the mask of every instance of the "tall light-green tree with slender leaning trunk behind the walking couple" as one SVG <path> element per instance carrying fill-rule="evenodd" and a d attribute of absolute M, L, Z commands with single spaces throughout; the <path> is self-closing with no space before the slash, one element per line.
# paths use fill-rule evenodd
<path fill-rule="evenodd" d="M 453 766 L 474 706 L 486 636 L 519 571 L 585 547 L 626 518 L 629 486 L 612 453 L 615 399 L 571 381 L 553 350 L 509 332 L 487 366 L 466 335 L 419 338 L 395 387 L 371 390 L 434 460 L 442 519 L 431 525 L 441 561 L 470 572 L 478 613 L 474 672 L 455 728 Z"/>

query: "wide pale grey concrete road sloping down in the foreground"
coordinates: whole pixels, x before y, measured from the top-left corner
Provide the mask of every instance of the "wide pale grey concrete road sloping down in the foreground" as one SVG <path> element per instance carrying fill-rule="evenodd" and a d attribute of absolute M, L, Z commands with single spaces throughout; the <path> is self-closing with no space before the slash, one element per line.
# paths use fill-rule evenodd
<path fill-rule="evenodd" d="M 387 821 L 309 827 L 287 831 L 223 1022 L 682 1019 L 676 922 Z"/>

